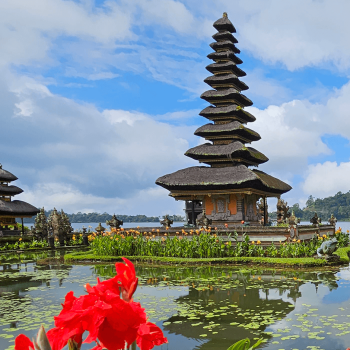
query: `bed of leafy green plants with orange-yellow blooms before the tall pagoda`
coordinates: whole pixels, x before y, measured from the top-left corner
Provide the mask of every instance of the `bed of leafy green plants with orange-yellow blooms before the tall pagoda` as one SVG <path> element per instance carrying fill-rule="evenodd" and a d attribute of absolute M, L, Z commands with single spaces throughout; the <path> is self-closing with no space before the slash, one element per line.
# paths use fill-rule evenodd
<path fill-rule="evenodd" d="M 187 236 L 187 237 L 186 237 Z M 231 240 L 231 237 L 233 240 Z M 336 234 L 338 246 L 349 244 L 348 235 Z M 317 236 L 310 241 L 293 239 L 290 242 L 274 243 L 263 247 L 261 242 L 251 241 L 243 233 L 239 240 L 234 232 L 227 237 L 218 236 L 210 230 L 190 230 L 176 232 L 175 237 L 167 233 L 160 235 L 159 230 L 140 232 L 137 230 L 114 230 L 103 235 L 89 235 L 91 249 L 98 256 L 159 256 L 181 258 L 223 258 L 223 257 L 271 257 L 271 258 L 300 258 L 312 257 L 317 248 L 329 236 Z"/>

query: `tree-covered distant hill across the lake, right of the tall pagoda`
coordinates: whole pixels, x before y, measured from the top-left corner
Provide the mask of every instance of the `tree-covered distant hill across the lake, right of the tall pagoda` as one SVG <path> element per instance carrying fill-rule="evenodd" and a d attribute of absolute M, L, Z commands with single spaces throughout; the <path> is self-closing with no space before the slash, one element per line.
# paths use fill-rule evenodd
<path fill-rule="evenodd" d="M 350 220 L 350 191 L 347 193 L 338 192 L 336 195 L 326 197 L 323 199 L 315 199 L 313 196 L 309 196 L 306 201 L 306 207 L 300 208 L 299 204 L 289 205 L 292 212 L 294 210 L 295 216 L 300 218 L 301 221 L 310 221 L 310 218 L 314 216 L 315 212 L 318 217 L 322 219 L 322 222 L 327 222 L 331 217 L 331 214 L 338 219 L 338 221 Z M 276 212 L 269 213 L 270 218 L 276 218 Z"/>

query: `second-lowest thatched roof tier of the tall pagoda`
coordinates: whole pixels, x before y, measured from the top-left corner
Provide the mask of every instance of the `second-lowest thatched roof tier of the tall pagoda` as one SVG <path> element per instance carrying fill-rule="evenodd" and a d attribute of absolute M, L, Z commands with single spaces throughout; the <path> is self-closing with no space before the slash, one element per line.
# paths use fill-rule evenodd
<path fill-rule="evenodd" d="M 243 164 L 249 164 L 249 162 L 262 164 L 269 160 L 264 154 L 257 151 L 255 148 L 246 147 L 240 141 L 234 141 L 227 145 L 213 145 L 211 143 L 205 143 L 203 145 L 190 148 L 185 155 L 202 161 L 214 158 L 216 160 L 223 159 L 224 161 L 232 158 L 241 158 L 241 162 Z M 244 160 L 247 162 L 244 162 Z"/>

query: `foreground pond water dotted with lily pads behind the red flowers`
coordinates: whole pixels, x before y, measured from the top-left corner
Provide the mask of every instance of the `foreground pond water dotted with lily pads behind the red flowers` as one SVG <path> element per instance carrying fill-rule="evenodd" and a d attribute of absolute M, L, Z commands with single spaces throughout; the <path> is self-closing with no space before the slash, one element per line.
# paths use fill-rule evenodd
<path fill-rule="evenodd" d="M 114 275 L 113 265 L 39 264 L 41 255 L 0 255 L 0 349 L 19 333 L 53 326 L 65 294 Z M 52 252 L 50 254 L 63 254 Z M 22 261 L 22 262 L 21 262 Z M 162 350 L 226 350 L 239 339 L 263 337 L 260 348 L 350 346 L 350 270 L 266 270 L 245 266 L 136 266 L 135 301 L 169 344 Z M 84 344 L 82 350 L 90 349 Z"/>

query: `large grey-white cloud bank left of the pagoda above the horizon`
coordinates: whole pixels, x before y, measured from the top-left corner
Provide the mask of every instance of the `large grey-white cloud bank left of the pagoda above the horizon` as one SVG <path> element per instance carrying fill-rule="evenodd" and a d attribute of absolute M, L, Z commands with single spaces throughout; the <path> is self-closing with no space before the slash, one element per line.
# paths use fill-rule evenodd
<path fill-rule="evenodd" d="M 144 213 L 146 206 L 153 215 L 164 214 L 163 209 L 179 213 L 180 204 L 154 182 L 193 164 L 184 156 L 189 141 L 197 139 L 193 126 L 169 125 L 140 112 L 98 111 L 52 94 L 29 78 L 7 75 L 0 91 L 7 91 L 0 97 L 7 130 L 0 140 L 1 161 L 19 177 L 17 185 L 27 189 L 29 197 L 24 193 L 23 198 L 49 208 L 57 197 L 57 206 L 65 203 L 71 211 L 101 206 L 112 212 L 115 205 L 119 212 Z M 27 101 L 32 101 L 30 109 Z M 30 117 L 13 118 L 18 110 Z M 183 115 L 186 111 L 175 113 Z M 16 142 L 10 135 L 16 135 Z M 145 204 L 147 196 L 150 203 L 159 200 L 153 209 Z"/>

